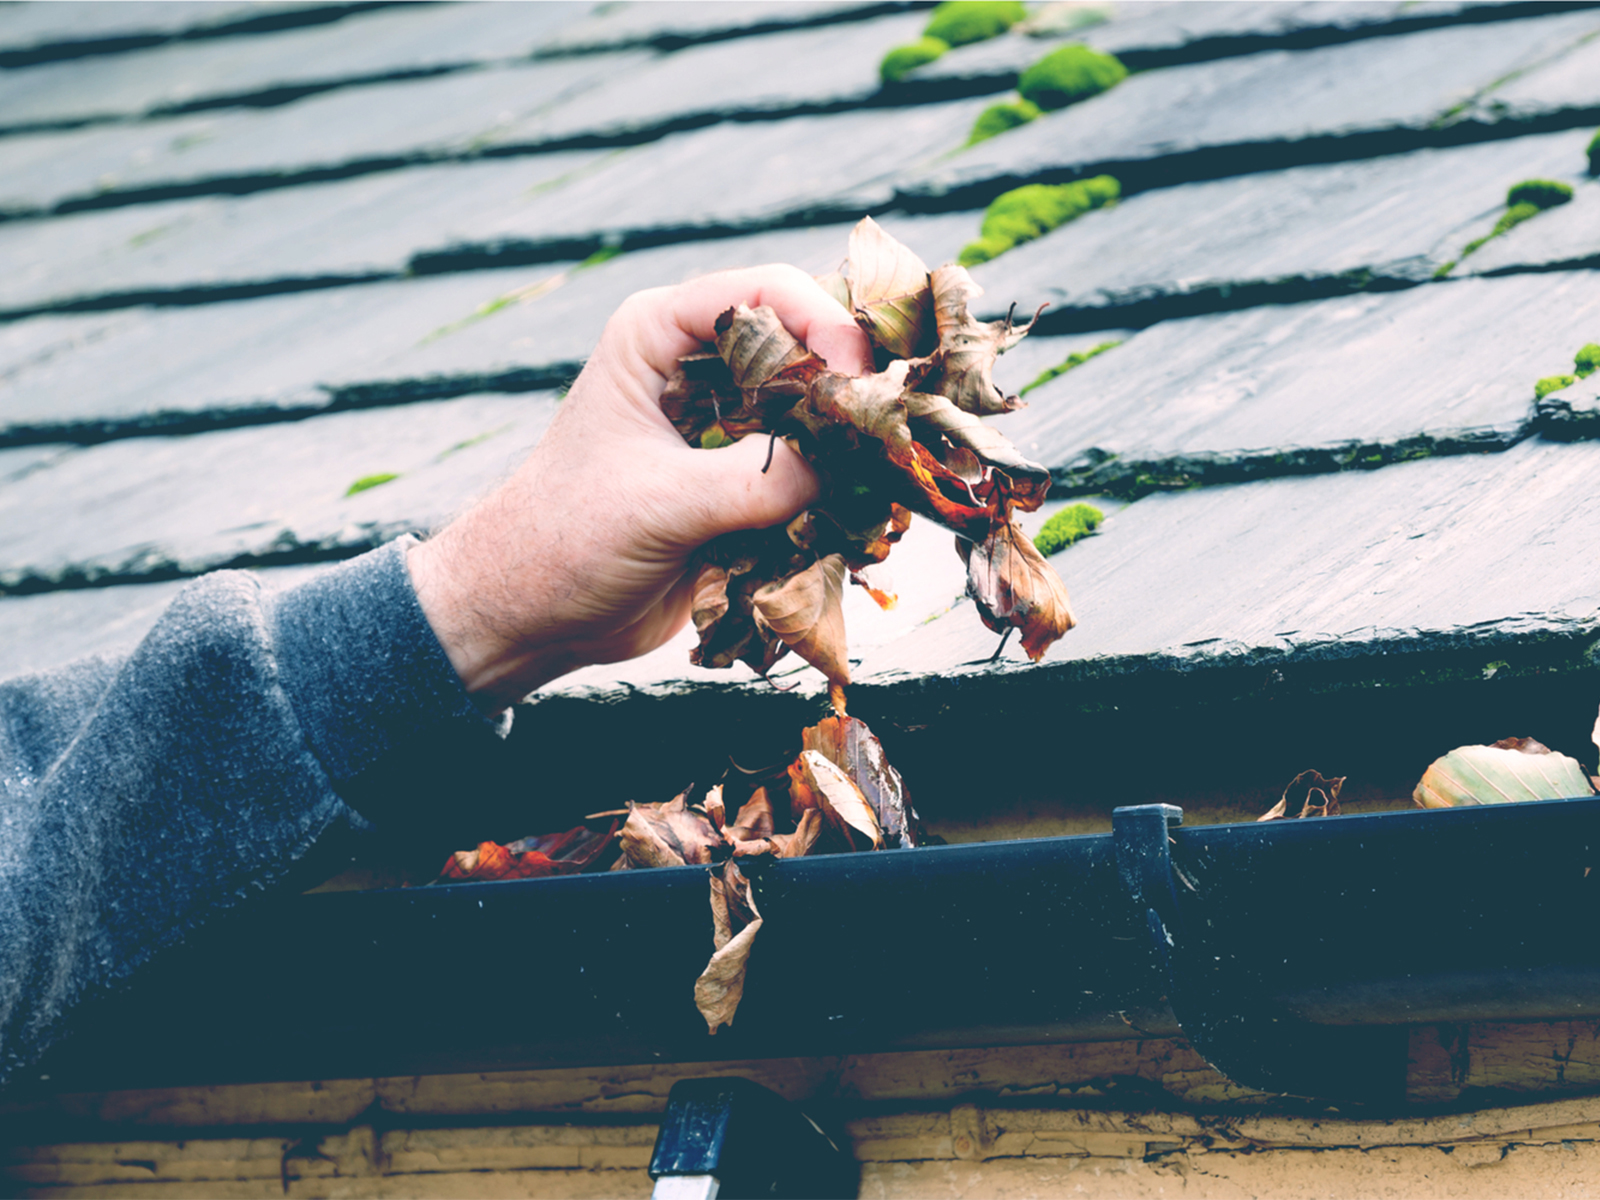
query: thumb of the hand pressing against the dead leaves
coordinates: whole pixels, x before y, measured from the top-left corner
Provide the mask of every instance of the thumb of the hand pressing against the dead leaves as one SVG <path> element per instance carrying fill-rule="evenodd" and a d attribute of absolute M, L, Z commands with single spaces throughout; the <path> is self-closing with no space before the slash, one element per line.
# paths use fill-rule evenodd
<path fill-rule="evenodd" d="M 771 462 L 768 462 L 771 450 Z M 765 467 L 765 470 L 763 470 Z M 731 446 L 698 450 L 685 459 L 686 494 L 698 496 L 694 544 L 736 530 L 789 522 L 821 491 L 816 472 L 782 438 L 752 434 Z"/>

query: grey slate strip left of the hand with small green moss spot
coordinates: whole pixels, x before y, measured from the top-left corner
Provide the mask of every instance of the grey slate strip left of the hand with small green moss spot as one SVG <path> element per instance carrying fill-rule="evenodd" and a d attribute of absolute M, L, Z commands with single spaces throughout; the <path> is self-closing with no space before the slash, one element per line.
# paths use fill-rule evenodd
<path fill-rule="evenodd" d="M 75 450 L 0 485 L 0 589 L 355 554 L 448 518 L 554 410 L 549 394 L 464 397 Z M 378 474 L 398 478 L 346 494 Z"/>

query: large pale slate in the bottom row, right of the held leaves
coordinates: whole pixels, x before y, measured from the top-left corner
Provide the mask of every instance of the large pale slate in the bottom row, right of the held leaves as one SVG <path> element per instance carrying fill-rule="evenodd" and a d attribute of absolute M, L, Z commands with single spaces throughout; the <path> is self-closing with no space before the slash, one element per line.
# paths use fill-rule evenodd
<path fill-rule="evenodd" d="M 1147 496 L 1051 562 L 1078 627 L 1030 667 L 963 603 L 869 651 L 893 685 L 1051 672 L 1381 656 L 1411 646 L 1600 629 L 1600 445 L 1539 440 L 1490 456 Z M 1373 670 L 1381 667 L 1374 666 Z"/>

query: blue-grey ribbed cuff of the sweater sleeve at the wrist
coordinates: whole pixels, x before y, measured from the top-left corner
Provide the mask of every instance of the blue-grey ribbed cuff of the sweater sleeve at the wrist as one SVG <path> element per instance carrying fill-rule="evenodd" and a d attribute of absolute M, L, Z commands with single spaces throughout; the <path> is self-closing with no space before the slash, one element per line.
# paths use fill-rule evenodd
<path fill-rule="evenodd" d="M 269 600 L 278 678 L 334 787 L 440 725 L 496 731 L 418 603 L 413 544 L 398 538 Z"/>

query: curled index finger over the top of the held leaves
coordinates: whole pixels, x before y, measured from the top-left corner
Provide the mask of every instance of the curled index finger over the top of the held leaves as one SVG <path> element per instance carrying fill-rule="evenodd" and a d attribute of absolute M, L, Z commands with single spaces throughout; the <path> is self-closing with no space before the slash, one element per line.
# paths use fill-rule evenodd
<path fill-rule="evenodd" d="M 678 358 L 715 341 L 717 317 L 738 304 L 766 304 L 806 349 L 843 374 L 872 370 L 867 336 L 845 307 L 798 267 L 766 266 L 722 270 L 666 290 L 666 304 L 651 322 L 653 338 L 642 346 L 646 362 L 662 376 Z"/>

